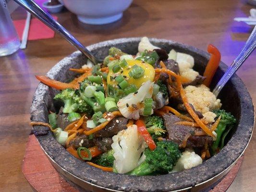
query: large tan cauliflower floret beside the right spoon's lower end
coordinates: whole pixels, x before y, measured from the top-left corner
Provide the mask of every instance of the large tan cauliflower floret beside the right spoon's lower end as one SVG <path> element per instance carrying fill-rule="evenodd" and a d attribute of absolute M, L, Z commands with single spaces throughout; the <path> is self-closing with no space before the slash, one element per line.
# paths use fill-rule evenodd
<path fill-rule="evenodd" d="M 204 84 L 198 87 L 189 85 L 184 88 L 184 91 L 188 102 L 194 106 L 195 110 L 200 111 L 202 114 L 221 107 L 220 100 L 216 99 L 216 96 Z"/>

